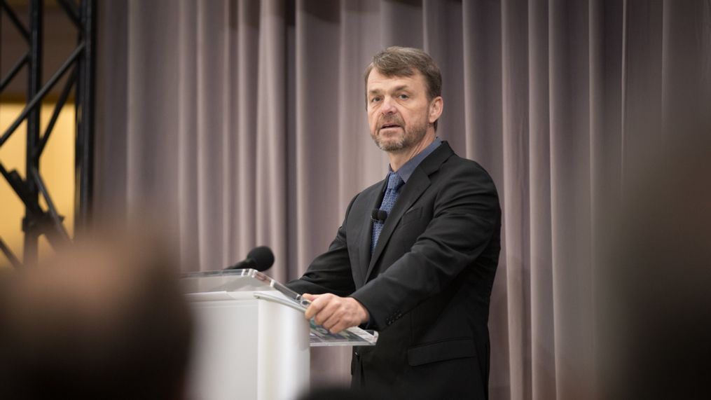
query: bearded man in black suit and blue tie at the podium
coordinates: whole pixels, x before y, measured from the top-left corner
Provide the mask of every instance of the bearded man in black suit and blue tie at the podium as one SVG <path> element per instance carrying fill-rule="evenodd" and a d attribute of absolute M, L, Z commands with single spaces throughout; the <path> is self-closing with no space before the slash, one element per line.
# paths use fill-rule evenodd
<path fill-rule="evenodd" d="M 379 331 L 377 345 L 354 348 L 354 387 L 486 399 L 496 188 L 435 135 L 442 77 L 427 53 L 383 50 L 365 85 L 370 134 L 390 172 L 351 200 L 328 252 L 289 286 L 312 301 L 306 318 L 332 332 Z"/>

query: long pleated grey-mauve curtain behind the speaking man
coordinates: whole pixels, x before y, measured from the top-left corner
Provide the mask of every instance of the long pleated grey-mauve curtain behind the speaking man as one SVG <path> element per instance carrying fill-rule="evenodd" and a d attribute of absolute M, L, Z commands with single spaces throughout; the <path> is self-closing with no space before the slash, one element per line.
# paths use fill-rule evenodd
<path fill-rule="evenodd" d="M 711 109 L 711 1 L 99 6 L 95 211 L 159 213 L 183 271 L 266 244 L 275 279 L 299 276 L 387 170 L 365 66 L 424 48 L 444 78 L 439 136 L 501 195 L 491 397 L 592 396 L 601 221 L 648 149 Z M 349 360 L 315 352 L 314 382 L 347 382 Z"/>

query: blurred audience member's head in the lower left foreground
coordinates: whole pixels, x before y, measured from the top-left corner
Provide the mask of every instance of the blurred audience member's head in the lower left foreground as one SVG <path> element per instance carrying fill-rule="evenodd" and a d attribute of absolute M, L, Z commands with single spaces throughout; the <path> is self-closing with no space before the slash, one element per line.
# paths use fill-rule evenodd
<path fill-rule="evenodd" d="M 0 398 L 183 398 L 192 321 L 169 254 L 154 237 L 96 233 L 6 271 Z"/>

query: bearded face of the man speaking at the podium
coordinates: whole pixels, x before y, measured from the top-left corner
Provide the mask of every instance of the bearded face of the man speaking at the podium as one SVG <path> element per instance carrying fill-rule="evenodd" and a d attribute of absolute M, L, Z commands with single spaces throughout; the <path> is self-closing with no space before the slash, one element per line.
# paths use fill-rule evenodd
<path fill-rule="evenodd" d="M 410 77 L 386 77 L 373 68 L 365 91 L 370 136 L 384 151 L 405 151 L 419 144 L 441 113 L 434 104 L 441 98 L 427 99 L 427 84 L 419 72 Z"/>

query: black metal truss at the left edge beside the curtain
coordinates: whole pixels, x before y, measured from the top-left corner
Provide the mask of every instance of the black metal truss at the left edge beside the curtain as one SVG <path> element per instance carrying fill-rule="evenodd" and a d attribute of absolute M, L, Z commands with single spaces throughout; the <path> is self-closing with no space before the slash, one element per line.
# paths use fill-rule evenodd
<path fill-rule="evenodd" d="M 5 13 L 11 24 L 26 40 L 27 52 L 14 63 L 6 76 L 1 77 L 0 93 L 14 80 L 17 73 L 27 68 L 27 98 L 20 115 L 4 132 L 1 132 L 0 147 L 26 121 L 27 150 L 26 178 L 16 170 L 7 171 L 0 160 L 0 174 L 11 185 L 18 198 L 25 205 L 25 217 L 22 221 L 24 236 L 23 264 L 33 264 L 37 259 L 38 238 L 45 234 L 52 246 L 70 241 L 63 217 L 55 208 L 54 202 L 40 174 L 40 161 L 47 141 L 54 129 L 61 109 L 72 90 L 75 92 L 75 232 L 86 227 L 90 220 L 92 204 L 93 171 L 93 118 L 94 118 L 94 82 L 95 82 L 95 0 L 56 0 L 66 16 L 77 28 L 77 46 L 46 81 L 42 82 L 43 48 L 43 11 L 44 0 L 29 1 L 28 26 L 24 26 L 17 13 L 6 0 L 0 0 L 0 13 Z M 49 124 L 41 132 L 40 113 L 42 99 L 68 75 L 64 87 L 55 104 Z M 44 210 L 40 195 L 47 205 Z M 0 238 L 0 252 L 16 267 L 21 261 L 11 252 Z"/>

